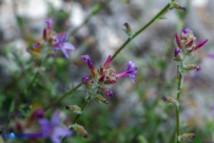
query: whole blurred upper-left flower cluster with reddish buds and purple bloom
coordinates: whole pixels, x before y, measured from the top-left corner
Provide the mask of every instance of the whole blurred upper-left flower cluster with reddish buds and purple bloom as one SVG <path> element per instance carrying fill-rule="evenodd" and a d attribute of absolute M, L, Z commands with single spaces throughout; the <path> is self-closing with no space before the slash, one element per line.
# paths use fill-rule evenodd
<path fill-rule="evenodd" d="M 42 40 L 39 40 L 33 43 L 31 48 L 28 48 L 30 53 L 32 54 L 40 54 L 42 50 L 42 45 L 50 45 L 52 48 L 48 49 L 48 52 L 52 56 L 57 56 L 57 51 L 61 50 L 66 58 L 69 58 L 68 51 L 73 51 L 75 47 L 67 42 L 68 35 L 65 32 L 56 33 L 53 30 L 53 20 L 51 18 L 47 18 L 45 20 L 46 28 L 43 30 Z"/>

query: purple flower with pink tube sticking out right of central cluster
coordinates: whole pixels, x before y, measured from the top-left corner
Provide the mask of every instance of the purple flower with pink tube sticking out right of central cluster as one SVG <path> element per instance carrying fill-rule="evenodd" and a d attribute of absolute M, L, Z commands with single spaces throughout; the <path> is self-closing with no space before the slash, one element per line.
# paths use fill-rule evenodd
<path fill-rule="evenodd" d="M 135 67 L 135 64 L 133 61 L 129 61 L 126 69 L 124 72 L 117 74 L 117 78 L 126 77 L 129 76 L 131 78 L 131 81 L 135 82 L 135 75 L 137 73 L 137 67 Z"/>

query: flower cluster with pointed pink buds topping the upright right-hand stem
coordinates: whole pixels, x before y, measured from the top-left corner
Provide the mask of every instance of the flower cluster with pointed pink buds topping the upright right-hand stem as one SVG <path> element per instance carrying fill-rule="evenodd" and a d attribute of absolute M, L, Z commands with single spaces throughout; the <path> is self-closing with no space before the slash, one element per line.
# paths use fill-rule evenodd
<path fill-rule="evenodd" d="M 193 32 L 189 28 L 185 28 L 182 30 L 181 34 L 175 35 L 177 48 L 174 50 L 174 57 L 176 61 L 184 61 L 185 58 L 191 55 L 194 51 L 203 47 L 208 39 L 197 42 L 196 37 Z M 184 70 L 197 70 L 199 71 L 201 68 L 198 65 L 188 65 L 183 67 Z"/>

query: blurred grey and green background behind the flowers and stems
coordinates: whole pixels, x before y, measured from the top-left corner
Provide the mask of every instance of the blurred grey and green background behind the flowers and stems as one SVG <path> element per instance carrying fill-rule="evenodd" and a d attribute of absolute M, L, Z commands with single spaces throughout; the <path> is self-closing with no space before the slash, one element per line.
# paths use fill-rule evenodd
<path fill-rule="evenodd" d="M 89 54 L 102 65 L 128 38 L 124 23 L 132 31 L 144 26 L 168 0 L 0 0 L 0 130 L 39 130 L 37 121 L 26 126 L 30 115 L 44 109 L 89 72 L 80 56 Z M 85 139 L 73 132 L 65 142 L 74 143 L 172 143 L 175 108 L 162 101 L 176 95 L 176 63 L 173 60 L 176 32 L 189 27 L 198 40 L 209 39 L 197 51 L 192 63 L 200 72 L 185 74 L 181 97 L 181 132 L 194 132 L 193 143 L 214 143 L 214 12 L 213 0 L 177 0 L 186 11 L 172 9 L 156 20 L 121 51 L 111 65 L 123 71 L 129 60 L 138 67 L 136 83 L 118 80 L 109 104 L 91 103 L 79 119 L 89 133 Z M 70 58 L 41 59 L 27 48 L 41 39 L 45 19 L 54 20 L 54 30 L 69 34 L 76 50 Z M 37 80 L 25 93 L 39 71 Z M 65 105 L 81 105 L 85 91 L 79 88 L 51 109 L 60 110 L 65 125 L 75 115 Z M 13 139 L 6 142 L 52 142 L 50 139 Z M 1 142 L 1 141 L 0 141 Z M 3 140 L 2 140 L 3 142 Z"/>

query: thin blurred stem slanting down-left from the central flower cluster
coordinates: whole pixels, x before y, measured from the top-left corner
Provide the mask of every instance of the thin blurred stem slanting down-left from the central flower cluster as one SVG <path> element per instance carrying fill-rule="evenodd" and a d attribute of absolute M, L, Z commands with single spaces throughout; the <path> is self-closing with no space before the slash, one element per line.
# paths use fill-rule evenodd
<path fill-rule="evenodd" d="M 48 106 L 46 106 L 44 108 L 44 110 L 48 110 L 50 107 L 60 103 L 64 98 L 66 98 L 67 96 L 71 95 L 74 91 L 76 91 L 79 87 L 82 86 L 82 83 L 77 84 L 74 88 L 70 89 L 68 92 L 65 92 L 60 98 L 58 98 L 57 100 L 51 102 Z"/>

